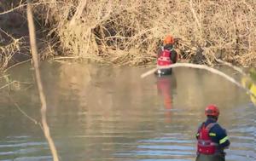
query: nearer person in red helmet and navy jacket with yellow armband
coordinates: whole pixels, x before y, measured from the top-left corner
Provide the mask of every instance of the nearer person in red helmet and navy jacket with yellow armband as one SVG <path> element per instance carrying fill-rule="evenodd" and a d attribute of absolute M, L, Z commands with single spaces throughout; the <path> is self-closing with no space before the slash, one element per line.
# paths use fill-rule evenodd
<path fill-rule="evenodd" d="M 207 106 L 205 114 L 207 121 L 201 124 L 196 134 L 196 161 L 224 161 L 224 149 L 230 146 L 230 141 L 226 130 L 217 123 L 218 107 Z"/>

